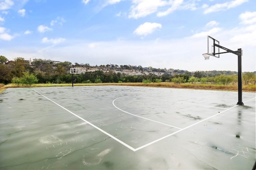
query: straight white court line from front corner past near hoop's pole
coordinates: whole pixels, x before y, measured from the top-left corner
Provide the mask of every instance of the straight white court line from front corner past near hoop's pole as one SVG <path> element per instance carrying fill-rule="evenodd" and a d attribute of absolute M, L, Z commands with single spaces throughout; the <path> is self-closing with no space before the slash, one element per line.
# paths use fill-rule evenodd
<path fill-rule="evenodd" d="M 255 97 L 254 97 L 254 98 L 255 98 Z M 250 99 L 250 100 L 253 100 L 254 98 L 252 98 L 252 99 Z M 249 102 L 250 100 L 247 100 L 246 102 Z M 246 102 L 244 102 L 244 103 L 246 103 Z M 203 120 L 201 120 L 201 121 L 198 121 L 198 122 L 196 122 L 196 123 L 194 123 L 194 124 L 192 124 L 192 125 L 189 125 L 189 126 L 187 126 L 187 127 L 184 127 L 183 129 L 180 129 L 180 130 L 178 130 L 178 131 L 176 131 L 176 132 L 174 132 L 174 133 L 171 133 L 171 134 L 166 135 L 166 136 L 164 136 L 164 137 L 161 137 L 161 138 L 159 138 L 159 139 L 157 139 L 157 140 L 155 140 L 155 141 L 152 141 L 152 142 L 150 142 L 150 143 L 148 143 L 148 144 L 146 144 L 146 145 L 143 145 L 143 146 L 141 146 L 141 147 L 138 147 L 138 148 L 135 149 L 135 151 L 140 150 L 140 149 L 145 148 L 145 147 L 148 147 L 149 145 L 152 145 L 153 143 L 156 143 L 156 142 L 158 142 L 158 141 L 161 141 L 162 139 L 165 139 L 165 138 L 170 137 L 170 136 L 172 136 L 172 135 L 174 135 L 174 134 L 176 134 L 176 133 L 179 133 L 179 132 L 181 132 L 181 131 L 184 131 L 185 129 L 188 129 L 188 128 L 194 126 L 194 125 L 197 125 L 198 123 L 201 123 L 201 122 L 203 122 L 203 121 L 206 121 L 206 120 L 208 120 L 208 119 L 210 119 L 210 118 L 212 118 L 212 117 L 215 117 L 216 115 L 219 115 L 219 114 L 221 114 L 221 113 L 224 113 L 225 111 L 228 111 L 228 110 L 230 110 L 230 109 L 233 109 L 234 107 L 237 107 L 237 106 L 239 106 L 239 105 L 230 107 L 229 109 L 226 109 L 226 110 L 224 110 L 224 111 L 221 111 L 220 113 L 217 113 L 217 114 L 215 114 L 215 115 L 212 115 L 212 116 L 210 116 L 210 117 L 208 117 L 208 118 L 206 118 L 206 119 L 203 119 Z"/>

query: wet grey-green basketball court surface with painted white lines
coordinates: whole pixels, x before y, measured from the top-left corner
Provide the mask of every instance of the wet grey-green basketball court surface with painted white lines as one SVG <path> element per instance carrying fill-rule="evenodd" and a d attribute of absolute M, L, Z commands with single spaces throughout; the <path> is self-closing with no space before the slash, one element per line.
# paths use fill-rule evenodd
<path fill-rule="evenodd" d="M 255 93 L 132 86 L 8 88 L 0 169 L 252 169 Z"/>

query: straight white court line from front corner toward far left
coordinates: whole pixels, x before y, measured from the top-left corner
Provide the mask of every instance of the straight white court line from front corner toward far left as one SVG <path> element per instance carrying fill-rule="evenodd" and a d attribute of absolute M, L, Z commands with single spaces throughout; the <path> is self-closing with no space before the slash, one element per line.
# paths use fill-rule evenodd
<path fill-rule="evenodd" d="M 32 88 L 30 88 L 31 90 L 33 90 L 34 92 L 36 92 L 36 93 L 38 93 L 38 94 L 40 94 L 39 92 L 37 92 L 36 90 L 34 90 L 34 89 L 32 89 Z M 44 96 L 44 95 L 42 95 L 42 94 L 40 94 L 41 96 L 43 96 L 44 98 L 46 98 L 46 99 L 48 99 L 48 100 L 50 100 L 49 98 L 47 98 L 46 96 Z M 56 102 L 54 102 L 54 101 L 52 101 L 52 100 L 50 100 L 51 102 L 53 102 L 54 104 L 56 104 L 56 105 L 58 105 L 58 106 L 60 106 L 59 104 L 57 104 Z M 108 135 L 109 137 L 111 137 L 112 139 L 114 139 L 114 140 L 116 140 L 116 141 L 118 141 L 119 143 L 121 143 L 122 145 L 124 145 L 125 147 L 127 147 L 127 148 L 129 148 L 130 150 L 132 150 L 132 151 L 136 151 L 133 147 L 131 147 L 130 145 L 127 145 L 126 143 L 124 143 L 123 141 L 120 141 L 119 139 L 117 139 L 116 137 L 114 137 L 113 135 L 110 135 L 109 133 L 107 133 L 106 131 L 104 131 L 104 130 L 102 130 L 102 129 L 100 129 L 99 127 L 97 127 L 97 126 L 95 126 L 94 124 L 92 124 L 92 123 L 90 123 L 90 122 L 88 122 L 87 120 L 85 120 L 85 119 L 83 119 L 82 117 L 80 117 L 80 116 L 78 116 L 78 115 L 76 115 L 75 113 L 73 113 L 72 111 L 69 111 L 68 109 L 66 109 L 65 107 L 63 107 L 63 106 L 60 106 L 62 109 L 64 109 L 64 110 L 66 110 L 66 111 L 68 111 L 69 113 L 71 113 L 71 114 L 73 114 L 73 115 L 75 115 L 76 117 L 78 117 L 79 119 L 81 119 L 82 121 L 85 121 L 86 123 L 88 123 L 89 125 L 91 125 L 92 127 L 94 127 L 94 128 L 96 128 L 96 129 L 98 129 L 99 131 L 101 131 L 102 133 L 104 133 L 104 134 L 106 134 L 106 135 Z"/>

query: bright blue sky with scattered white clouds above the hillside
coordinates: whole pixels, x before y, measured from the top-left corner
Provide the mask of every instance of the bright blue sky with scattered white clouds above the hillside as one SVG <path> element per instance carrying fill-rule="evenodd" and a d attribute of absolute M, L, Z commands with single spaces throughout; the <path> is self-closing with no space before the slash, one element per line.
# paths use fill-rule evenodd
<path fill-rule="evenodd" d="M 256 70 L 256 0 L 0 0 L 0 55 L 90 65 Z"/>

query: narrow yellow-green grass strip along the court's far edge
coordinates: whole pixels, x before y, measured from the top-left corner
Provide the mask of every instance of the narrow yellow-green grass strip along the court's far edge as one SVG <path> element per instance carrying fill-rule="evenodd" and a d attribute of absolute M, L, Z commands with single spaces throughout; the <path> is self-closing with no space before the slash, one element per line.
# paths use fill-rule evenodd
<path fill-rule="evenodd" d="M 160 82 L 160 83 L 81 83 L 74 84 L 74 86 L 147 86 L 147 87 L 162 87 L 162 88 L 188 88 L 188 89 L 200 89 L 200 90 L 226 90 L 237 91 L 237 85 L 219 85 L 219 84 L 190 84 L 182 83 L 176 84 L 172 82 Z M 0 84 L 0 93 L 6 88 L 18 88 L 18 87 L 60 87 L 60 86 L 72 86 L 72 84 L 33 84 L 32 86 L 17 85 L 17 84 Z M 250 84 L 242 87 L 244 92 L 256 92 L 256 85 Z"/>

